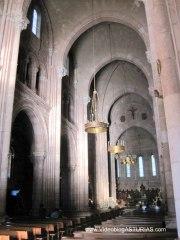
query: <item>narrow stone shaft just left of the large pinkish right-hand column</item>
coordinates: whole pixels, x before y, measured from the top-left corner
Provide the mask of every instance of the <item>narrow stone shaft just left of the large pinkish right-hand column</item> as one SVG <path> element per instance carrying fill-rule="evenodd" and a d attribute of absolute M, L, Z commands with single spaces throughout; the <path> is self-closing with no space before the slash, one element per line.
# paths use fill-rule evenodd
<path fill-rule="evenodd" d="M 156 68 L 154 69 L 154 76 L 156 76 Z M 154 77 L 156 79 L 154 89 L 158 89 L 162 94 L 161 84 L 159 76 Z M 162 97 L 155 97 L 152 89 L 150 90 L 153 105 L 154 105 L 154 116 L 156 124 L 156 135 L 157 135 L 157 146 L 158 146 L 158 160 L 161 181 L 161 192 L 163 202 L 166 208 L 166 224 L 169 228 L 175 228 L 175 205 L 174 205 L 174 193 L 172 183 L 172 172 L 169 155 L 169 144 L 167 137 L 167 127 L 164 112 L 164 103 Z"/>

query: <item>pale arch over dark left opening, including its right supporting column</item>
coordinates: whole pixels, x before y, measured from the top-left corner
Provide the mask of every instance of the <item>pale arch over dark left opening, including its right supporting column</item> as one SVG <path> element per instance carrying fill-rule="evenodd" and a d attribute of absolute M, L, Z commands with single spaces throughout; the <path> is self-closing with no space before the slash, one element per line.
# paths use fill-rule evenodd
<path fill-rule="evenodd" d="M 32 128 L 34 141 L 31 149 L 33 163 L 33 192 L 32 192 L 32 214 L 37 215 L 41 203 L 44 203 L 44 164 L 48 159 L 48 132 L 41 109 L 30 99 L 18 101 L 14 106 L 12 123 L 16 116 L 24 111 L 28 116 Z"/>

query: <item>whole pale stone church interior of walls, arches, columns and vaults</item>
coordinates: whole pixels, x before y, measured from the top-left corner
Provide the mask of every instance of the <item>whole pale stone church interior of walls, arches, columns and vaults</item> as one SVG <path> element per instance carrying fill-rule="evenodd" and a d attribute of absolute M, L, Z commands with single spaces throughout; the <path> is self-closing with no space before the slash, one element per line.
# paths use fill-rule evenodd
<path fill-rule="evenodd" d="M 179 12 L 179 0 L 0 1 L 0 216 L 158 199 L 180 237 Z M 94 78 L 108 132 L 91 135 Z M 133 165 L 107 151 L 122 141 Z"/>

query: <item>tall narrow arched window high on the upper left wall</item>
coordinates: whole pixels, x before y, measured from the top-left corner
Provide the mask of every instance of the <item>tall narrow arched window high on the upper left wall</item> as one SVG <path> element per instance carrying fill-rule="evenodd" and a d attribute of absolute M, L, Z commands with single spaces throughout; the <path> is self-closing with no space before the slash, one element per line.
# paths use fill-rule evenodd
<path fill-rule="evenodd" d="M 41 32 L 41 13 L 37 8 L 33 9 L 32 12 L 32 26 L 31 26 L 32 32 L 40 38 L 40 32 Z"/>

